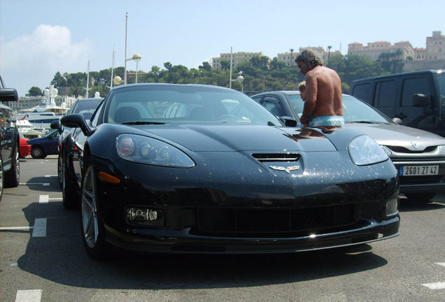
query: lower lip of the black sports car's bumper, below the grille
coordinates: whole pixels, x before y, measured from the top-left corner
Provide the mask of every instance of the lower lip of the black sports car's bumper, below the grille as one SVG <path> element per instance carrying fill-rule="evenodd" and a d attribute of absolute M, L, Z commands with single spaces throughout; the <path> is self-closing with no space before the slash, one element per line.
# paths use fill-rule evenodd
<path fill-rule="evenodd" d="M 125 250 L 191 254 L 264 254 L 324 250 L 371 243 L 399 236 L 400 217 L 383 222 L 363 220 L 354 229 L 294 238 L 227 238 L 196 236 L 190 229 L 133 230 L 122 233 L 106 227 L 108 243 Z"/>

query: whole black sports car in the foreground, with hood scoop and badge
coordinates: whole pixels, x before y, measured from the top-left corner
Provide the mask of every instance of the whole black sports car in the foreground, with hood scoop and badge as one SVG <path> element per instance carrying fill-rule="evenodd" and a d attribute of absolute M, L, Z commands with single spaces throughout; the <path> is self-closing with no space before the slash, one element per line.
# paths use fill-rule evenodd
<path fill-rule="evenodd" d="M 172 84 L 113 87 L 90 122 L 61 122 L 78 127 L 64 198 L 80 197 L 90 257 L 110 244 L 271 253 L 398 235 L 395 167 L 353 129 L 286 127 L 240 92 Z"/>

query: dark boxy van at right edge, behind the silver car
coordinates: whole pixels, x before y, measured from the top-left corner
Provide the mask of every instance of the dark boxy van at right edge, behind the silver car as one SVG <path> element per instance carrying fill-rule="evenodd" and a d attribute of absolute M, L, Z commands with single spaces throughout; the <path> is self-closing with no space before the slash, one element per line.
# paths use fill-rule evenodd
<path fill-rule="evenodd" d="M 400 124 L 445 136 L 444 70 L 353 80 L 351 94 Z"/>

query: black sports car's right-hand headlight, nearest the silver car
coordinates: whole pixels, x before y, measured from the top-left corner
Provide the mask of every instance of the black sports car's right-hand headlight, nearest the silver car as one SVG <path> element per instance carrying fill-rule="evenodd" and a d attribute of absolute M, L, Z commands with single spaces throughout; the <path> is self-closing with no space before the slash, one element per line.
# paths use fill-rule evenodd
<path fill-rule="evenodd" d="M 348 150 L 354 164 L 358 166 L 377 164 L 388 159 L 379 144 L 366 135 L 354 138 L 349 143 Z"/>

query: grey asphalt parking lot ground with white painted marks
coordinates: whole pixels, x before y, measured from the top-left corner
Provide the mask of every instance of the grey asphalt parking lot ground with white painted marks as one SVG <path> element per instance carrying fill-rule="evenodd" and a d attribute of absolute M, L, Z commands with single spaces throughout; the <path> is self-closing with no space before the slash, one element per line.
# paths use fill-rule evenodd
<path fill-rule="evenodd" d="M 400 236 L 255 256 L 85 254 L 57 157 L 20 162 L 0 202 L 0 301 L 445 301 L 445 195 L 402 199 Z"/>

